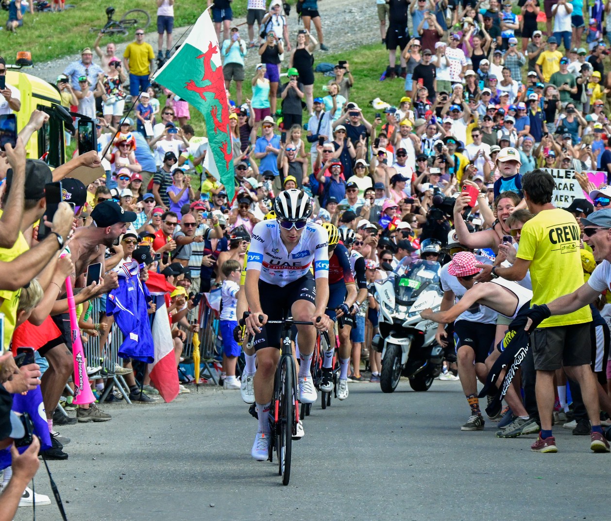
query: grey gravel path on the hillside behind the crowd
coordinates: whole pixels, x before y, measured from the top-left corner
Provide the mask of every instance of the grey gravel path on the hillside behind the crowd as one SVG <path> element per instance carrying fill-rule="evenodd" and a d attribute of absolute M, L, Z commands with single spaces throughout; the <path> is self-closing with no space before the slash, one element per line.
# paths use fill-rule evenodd
<path fill-rule="evenodd" d="M 376 12 L 376 6 L 373 0 L 364 2 L 362 0 L 320 0 L 319 12 L 323 21 L 323 34 L 324 43 L 329 47 L 331 53 L 338 53 L 347 51 L 350 49 L 357 48 L 361 45 L 368 43 L 379 42 L 379 21 Z M 245 23 L 246 18 L 235 18 L 234 21 L 237 24 Z M 148 27 L 149 31 L 145 35 L 145 40 L 153 46 L 153 50 L 157 50 L 157 34 L 155 31 L 155 15 L 151 16 L 151 25 Z M 256 26 L 255 26 L 256 27 Z M 291 9 L 290 17 L 288 18 L 289 34 L 291 37 L 291 45 L 295 45 L 295 36 L 298 29 L 303 27 L 303 24 L 297 24 L 297 15 L 295 7 Z M 183 35 L 188 27 L 174 28 L 174 41 Z M 313 24 L 311 31 L 316 35 Z M 247 40 L 248 33 L 246 24 L 240 26 L 240 35 Z M 92 34 L 90 42 L 83 42 L 83 46 L 93 45 L 95 35 Z M 107 40 L 104 39 L 103 42 Z M 123 51 L 127 43 L 120 43 L 117 45 L 117 56 L 122 56 Z M 316 50 L 315 59 L 316 63 L 326 61 L 325 55 L 329 53 Z M 57 75 L 60 75 L 64 68 L 72 61 L 79 59 L 78 54 L 72 56 L 65 56 L 45 62 L 41 64 L 35 64 L 32 68 L 32 74 L 40 78 L 46 79 L 46 81 L 53 82 L 56 80 Z M 97 56 L 95 57 L 97 61 Z M 252 75 L 252 68 L 259 61 L 258 54 L 255 49 L 249 50 L 246 56 L 246 68 L 250 70 L 247 72 L 247 76 Z M 287 58 L 285 58 L 287 63 Z"/>

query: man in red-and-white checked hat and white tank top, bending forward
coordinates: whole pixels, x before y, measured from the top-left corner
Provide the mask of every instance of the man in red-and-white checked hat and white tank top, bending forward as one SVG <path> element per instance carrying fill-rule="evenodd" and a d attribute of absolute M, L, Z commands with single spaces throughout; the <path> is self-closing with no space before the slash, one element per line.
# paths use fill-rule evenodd
<path fill-rule="evenodd" d="M 477 260 L 473 253 L 461 251 L 454 255 L 450 265 L 475 265 L 474 263 L 477 263 Z M 474 281 L 472 275 L 470 275 L 469 278 L 464 278 L 463 276 L 456 276 L 456 278 L 459 284 L 467 289 L 463 297 L 461 297 L 455 305 L 445 311 L 433 312 L 431 308 L 425 309 L 420 313 L 423 319 L 433 320 L 433 322 L 437 323 L 451 323 L 471 306 L 479 304 L 494 309 L 494 311 L 499 312 L 507 317 L 507 319 L 513 320 L 518 315 L 520 309 L 530 308 L 532 291 L 520 286 L 518 283 L 501 278 L 494 279 L 488 283 L 477 283 Z M 503 328 L 506 330 L 507 326 Z M 461 382 L 463 382 L 464 375 L 459 374 L 459 376 L 461 377 Z M 498 381 L 500 382 L 501 380 L 502 375 L 499 376 Z M 496 433 L 497 437 L 515 438 L 523 434 L 533 434 L 539 431 L 536 419 L 529 416 L 526 412 L 519 398 L 519 394 L 505 394 L 505 401 L 507 401 L 508 405 L 511 407 L 516 419 L 505 427 L 505 429 L 498 430 Z"/>

